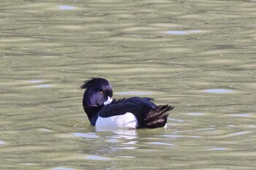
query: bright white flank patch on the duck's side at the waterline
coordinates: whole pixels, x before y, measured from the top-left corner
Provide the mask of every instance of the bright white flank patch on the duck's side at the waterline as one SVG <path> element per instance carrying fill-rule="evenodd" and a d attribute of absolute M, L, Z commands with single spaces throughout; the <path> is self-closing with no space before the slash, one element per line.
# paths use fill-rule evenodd
<path fill-rule="evenodd" d="M 127 112 L 124 115 L 98 117 L 95 126 L 96 128 L 137 128 L 138 120 L 135 115 Z"/>

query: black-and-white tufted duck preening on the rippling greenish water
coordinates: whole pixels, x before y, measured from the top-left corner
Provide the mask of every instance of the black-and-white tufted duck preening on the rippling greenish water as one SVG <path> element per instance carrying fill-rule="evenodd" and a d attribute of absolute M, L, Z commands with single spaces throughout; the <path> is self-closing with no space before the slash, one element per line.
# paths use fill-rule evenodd
<path fill-rule="evenodd" d="M 91 78 L 83 82 L 83 109 L 96 128 L 162 128 L 167 124 L 168 111 L 174 106 L 154 104 L 153 98 L 130 97 L 113 99 L 110 82 Z"/>

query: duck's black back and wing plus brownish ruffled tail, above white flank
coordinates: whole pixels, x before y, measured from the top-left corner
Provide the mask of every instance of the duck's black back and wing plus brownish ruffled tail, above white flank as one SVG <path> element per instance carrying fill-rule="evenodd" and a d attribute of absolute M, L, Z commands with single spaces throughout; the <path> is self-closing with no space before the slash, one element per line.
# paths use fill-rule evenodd
<path fill-rule="evenodd" d="M 123 98 L 114 100 L 111 104 L 99 110 L 99 117 L 111 117 L 132 113 L 138 121 L 138 128 L 159 128 L 167 123 L 167 112 L 172 106 L 159 105 L 153 102 L 153 98 Z"/>

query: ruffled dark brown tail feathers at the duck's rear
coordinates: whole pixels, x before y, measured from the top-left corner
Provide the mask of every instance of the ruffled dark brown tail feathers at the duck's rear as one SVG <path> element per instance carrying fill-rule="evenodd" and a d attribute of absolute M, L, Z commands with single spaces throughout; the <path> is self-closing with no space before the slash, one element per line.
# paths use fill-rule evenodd
<path fill-rule="evenodd" d="M 167 123 L 168 111 L 174 107 L 169 105 L 159 105 L 156 109 L 151 109 L 143 120 L 142 128 L 161 128 Z"/>

